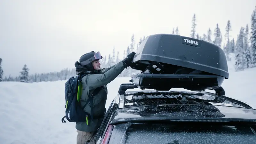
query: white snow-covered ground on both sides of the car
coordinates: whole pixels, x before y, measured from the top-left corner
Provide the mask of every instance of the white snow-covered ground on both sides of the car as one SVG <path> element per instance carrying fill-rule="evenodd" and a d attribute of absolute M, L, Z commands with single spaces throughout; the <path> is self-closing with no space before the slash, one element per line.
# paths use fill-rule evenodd
<path fill-rule="evenodd" d="M 229 66 L 229 79 L 222 84 L 226 95 L 256 108 L 256 68 L 234 72 Z M 106 108 L 122 83 L 130 78 L 116 78 L 108 84 Z M 61 123 L 65 115 L 65 81 L 25 84 L 0 83 L 1 144 L 74 144 L 74 123 Z M 211 91 L 210 91 L 211 92 Z"/>

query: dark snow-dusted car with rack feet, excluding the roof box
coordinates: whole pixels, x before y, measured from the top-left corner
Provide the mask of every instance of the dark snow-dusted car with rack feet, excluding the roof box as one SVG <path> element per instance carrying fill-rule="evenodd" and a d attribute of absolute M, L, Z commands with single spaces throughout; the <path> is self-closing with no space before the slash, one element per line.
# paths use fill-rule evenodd
<path fill-rule="evenodd" d="M 198 91 L 131 91 L 121 84 L 91 144 L 255 143 L 256 110 Z M 136 86 L 135 86 L 136 87 Z M 124 93 L 125 92 L 125 93 Z"/>

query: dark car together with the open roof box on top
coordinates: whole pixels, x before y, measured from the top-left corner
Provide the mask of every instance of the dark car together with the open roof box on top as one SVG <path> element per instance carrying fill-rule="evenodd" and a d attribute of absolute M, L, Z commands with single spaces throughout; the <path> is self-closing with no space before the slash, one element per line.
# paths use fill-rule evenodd
<path fill-rule="evenodd" d="M 120 85 L 90 144 L 255 143 L 256 109 L 226 96 L 228 66 L 217 45 L 147 36 L 131 67 L 142 72 Z"/>

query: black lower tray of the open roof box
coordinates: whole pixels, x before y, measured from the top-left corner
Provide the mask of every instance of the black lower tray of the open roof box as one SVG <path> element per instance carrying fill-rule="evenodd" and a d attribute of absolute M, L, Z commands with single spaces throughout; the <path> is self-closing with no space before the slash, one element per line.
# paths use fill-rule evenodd
<path fill-rule="evenodd" d="M 220 87 L 224 79 L 223 76 L 202 74 L 133 74 L 131 82 L 140 89 L 202 91 Z"/>

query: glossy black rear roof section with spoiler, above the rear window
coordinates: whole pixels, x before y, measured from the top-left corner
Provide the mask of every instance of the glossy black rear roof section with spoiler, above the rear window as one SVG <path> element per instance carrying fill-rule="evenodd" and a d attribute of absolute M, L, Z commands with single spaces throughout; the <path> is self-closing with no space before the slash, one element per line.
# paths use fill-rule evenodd
<path fill-rule="evenodd" d="M 156 105 L 141 106 L 117 109 L 111 118 L 110 123 L 118 121 L 134 120 L 163 120 L 163 119 L 240 119 L 256 122 L 256 110 L 247 108 L 237 108 L 229 106 L 214 105 Z M 216 119 L 215 119 L 216 120 Z"/>

